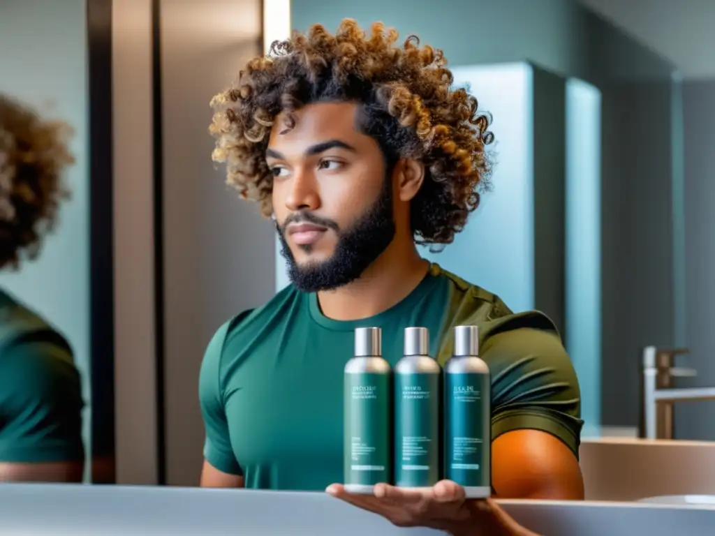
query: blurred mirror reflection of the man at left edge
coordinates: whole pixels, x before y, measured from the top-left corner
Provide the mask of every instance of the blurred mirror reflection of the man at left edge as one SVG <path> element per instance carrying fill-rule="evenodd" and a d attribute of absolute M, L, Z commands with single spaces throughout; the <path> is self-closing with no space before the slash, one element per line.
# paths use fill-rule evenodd
<path fill-rule="evenodd" d="M 36 257 L 73 162 L 66 125 L 0 95 L 0 266 Z M 81 482 L 82 389 L 66 339 L 0 290 L 0 482 Z"/>

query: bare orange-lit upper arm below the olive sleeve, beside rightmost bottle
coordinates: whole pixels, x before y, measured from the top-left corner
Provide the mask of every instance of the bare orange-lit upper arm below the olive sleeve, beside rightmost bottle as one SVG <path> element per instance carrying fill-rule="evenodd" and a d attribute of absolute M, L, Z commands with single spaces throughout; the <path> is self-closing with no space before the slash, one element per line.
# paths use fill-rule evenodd
<path fill-rule="evenodd" d="M 573 452 L 540 430 L 514 430 L 492 443 L 492 482 L 501 499 L 583 500 Z"/>

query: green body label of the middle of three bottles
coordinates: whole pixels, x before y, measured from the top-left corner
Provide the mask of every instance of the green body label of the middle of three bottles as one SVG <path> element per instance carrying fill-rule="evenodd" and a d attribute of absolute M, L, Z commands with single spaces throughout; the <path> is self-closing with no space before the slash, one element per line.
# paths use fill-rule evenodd
<path fill-rule="evenodd" d="M 395 484 L 440 480 L 440 374 L 395 374 Z"/>

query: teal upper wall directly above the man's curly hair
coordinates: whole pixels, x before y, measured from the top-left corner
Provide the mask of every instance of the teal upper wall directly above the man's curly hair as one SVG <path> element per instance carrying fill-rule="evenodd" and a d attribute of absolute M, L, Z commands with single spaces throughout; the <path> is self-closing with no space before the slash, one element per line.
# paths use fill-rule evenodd
<path fill-rule="evenodd" d="M 367 27 L 395 26 L 406 38 L 443 49 L 450 65 L 531 60 L 561 74 L 586 76 L 583 9 L 571 0 L 453 0 L 448 9 L 428 3 L 364 0 L 292 0 L 292 27 L 325 24 L 334 31 L 345 17 Z"/>

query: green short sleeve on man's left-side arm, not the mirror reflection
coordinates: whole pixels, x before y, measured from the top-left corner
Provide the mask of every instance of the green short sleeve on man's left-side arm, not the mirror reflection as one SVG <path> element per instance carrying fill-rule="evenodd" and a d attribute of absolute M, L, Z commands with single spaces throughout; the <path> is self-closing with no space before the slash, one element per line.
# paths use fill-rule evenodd
<path fill-rule="evenodd" d="M 228 422 L 223 403 L 221 355 L 231 322 L 214 334 L 204 353 L 199 372 L 199 403 L 204 420 L 204 459 L 217 470 L 241 475 L 241 467 L 231 447 Z"/>

